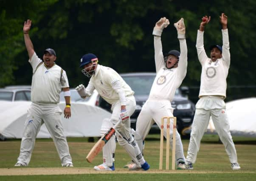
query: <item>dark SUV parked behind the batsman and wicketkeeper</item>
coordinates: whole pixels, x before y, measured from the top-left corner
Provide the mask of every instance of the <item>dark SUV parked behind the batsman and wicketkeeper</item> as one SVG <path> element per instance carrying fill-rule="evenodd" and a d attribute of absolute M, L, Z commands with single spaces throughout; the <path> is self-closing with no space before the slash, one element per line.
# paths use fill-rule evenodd
<path fill-rule="evenodd" d="M 137 117 L 141 111 L 143 104 L 149 97 L 149 92 L 155 79 L 156 73 L 138 72 L 125 73 L 120 75 L 135 92 L 134 96 L 136 100 L 136 110 L 130 118 L 131 128 L 136 129 Z M 192 124 L 194 118 L 195 105 L 188 99 L 188 92 L 189 90 L 186 86 L 178 88 L 172 101 L 172 107 L 174 109 L 173 114 L 175 117 L 177 117 L 177 130 L 180 134 L 182 134 L 182 131 Z M 101 97 L 99 99 L 99 106 L 103 109 L 111 111 L 110 105 Z M 156 124 L 152 125 L 150 133 L 159 131 L 160 130 Z"/>

